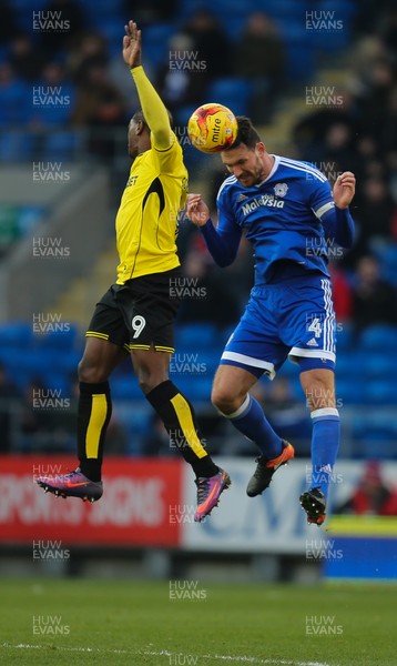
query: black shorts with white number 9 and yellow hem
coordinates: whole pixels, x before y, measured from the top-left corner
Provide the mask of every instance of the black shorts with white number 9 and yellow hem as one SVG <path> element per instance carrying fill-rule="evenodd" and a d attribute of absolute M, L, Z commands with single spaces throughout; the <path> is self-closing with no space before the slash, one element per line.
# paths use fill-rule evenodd
<path fill-rule="evenodd" d="M 172 284 L 181 278 L 181 269 L 153 273 L 113 284 L 96 303 L 85 333 L 131 350 L 173 353 L 174 321 L 180 299 L 173 296 Z"/>

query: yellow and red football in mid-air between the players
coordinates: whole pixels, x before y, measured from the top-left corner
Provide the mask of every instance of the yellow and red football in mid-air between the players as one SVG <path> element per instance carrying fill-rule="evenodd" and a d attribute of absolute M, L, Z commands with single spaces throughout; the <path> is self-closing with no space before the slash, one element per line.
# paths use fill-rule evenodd
<path fill-rule="evenodd" d="M 237 120 L 223 104 L 198 107 L 187 123 L 189 138 L 197 150 L 205 153 L 230 148 L 237 137 Z"/>

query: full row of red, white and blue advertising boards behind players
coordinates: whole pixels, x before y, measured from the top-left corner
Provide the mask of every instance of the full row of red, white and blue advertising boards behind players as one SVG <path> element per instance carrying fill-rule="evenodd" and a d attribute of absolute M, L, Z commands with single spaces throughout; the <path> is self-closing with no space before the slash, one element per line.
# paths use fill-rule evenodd
<path fill-rule="evenodd" d="M 282 467 L 269 490 L 255 498 L 245 493 L 253 472 L 252 461 L 234 457 L 217 462 L 230 472 L 232 486 L 212 516 L 197 524 L 193 519 L 193 474 L 177 457 L 109 457 L 104 464 L 103 498 L 92 505 L 44 494 L 34 483 L 38 475 L 72 470 L 73 458 L 1 456 L 0 544 L 31 547 L 33 543 L 61 541 L 71 547 L 131 546 L 186 554 L 303 556 L 306 562 L 322 561 L 325 575 L 350 577 L 357 557 L 354 545 L 359 542 L 346 544 L 346 538 L 365 536 L 366 551 L 362 553 L 369 565 L 364 577 L 370 577 L 371 573 L 381 577 L 383 571 L 390 577 L 391 569 L 396 571 L 390 563 L 380 573 L 375 571 L 379 538 L 388 538 L 390 557 L 397 557 L 396 517 L 334 517 L 327 521 L 325 529 L 307 525 L 298 497 L 311 483 L 308 460 L 295 460 Z M 364 470 L 363 462 L 342 461 L 336 465 L 329 494 L 330 514 L 352 495 Z M 393 487 L 397 464 L 384 464 L 380 472 L 386 485 Z M 345 553 L 338 543 L 345 544 Z M 360 567 L 362 574 L 363 571 Z"/>

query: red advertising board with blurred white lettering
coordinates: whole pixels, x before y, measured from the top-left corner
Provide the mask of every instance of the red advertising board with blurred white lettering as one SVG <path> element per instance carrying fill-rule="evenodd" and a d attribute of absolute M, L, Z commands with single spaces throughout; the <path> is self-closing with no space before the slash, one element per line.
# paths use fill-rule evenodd
<path fill-rule="evenodd" d="M 106 458 L 103 496 L 91 504 L 54 497 L 35 483 L 70 472 L 69 457 L 0 456 L 0 543 L 62 539 L 67 544 L 173 546 L 181 524 L 183 461 Z"/>

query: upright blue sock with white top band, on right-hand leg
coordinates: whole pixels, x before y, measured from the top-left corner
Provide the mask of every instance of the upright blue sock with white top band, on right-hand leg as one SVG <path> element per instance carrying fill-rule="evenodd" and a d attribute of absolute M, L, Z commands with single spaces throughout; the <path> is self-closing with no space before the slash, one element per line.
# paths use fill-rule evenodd
<path fill-rule="evenodd" d="M 340 421 L 334 407 L 312 412 L 312 484 L 327 497 L 333 470 L 339 448 Z"/>

